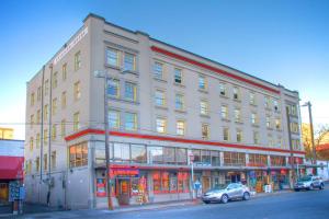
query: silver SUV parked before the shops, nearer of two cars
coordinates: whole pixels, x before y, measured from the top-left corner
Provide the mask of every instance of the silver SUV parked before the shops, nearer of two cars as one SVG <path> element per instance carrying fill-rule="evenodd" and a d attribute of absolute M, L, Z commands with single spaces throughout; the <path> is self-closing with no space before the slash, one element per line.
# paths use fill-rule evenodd
<path fill-rule="evenodd" d="M 207 191 L 202 196 L 205 204 L 209 203 L 224 203 L 226 204 L 231 199 L 250 199 L 250 191 L 241 183 L 230 183 L 223 187 L 216 187 Z"/>

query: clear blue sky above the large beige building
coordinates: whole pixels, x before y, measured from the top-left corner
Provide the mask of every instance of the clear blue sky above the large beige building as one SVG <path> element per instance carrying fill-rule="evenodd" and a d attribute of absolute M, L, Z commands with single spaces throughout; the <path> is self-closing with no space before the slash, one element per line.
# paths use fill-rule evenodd
<path fill-rule="evenodd" d="M 0 126 L 15 138 L 24 139 L 26 81 L 89 12 L 298 90 L 315 123 L 329 124 L 327 0 L 2 0 L 0 10 Z"/>

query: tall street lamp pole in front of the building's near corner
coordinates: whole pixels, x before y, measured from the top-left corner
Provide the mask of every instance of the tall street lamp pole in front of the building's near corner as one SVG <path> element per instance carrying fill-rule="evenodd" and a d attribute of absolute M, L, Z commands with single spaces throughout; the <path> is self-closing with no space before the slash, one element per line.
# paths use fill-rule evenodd
<path fill-rule="evenodd" d="M 113 210 L 113 203 L 112 203 L 112 186 L 110 182 L 110 154 L 109 154 L 109 101 L 107 101 L 107 71 L 94 71 L 94 77 L 95 78 L 103 78 L 104 79 L 104 130 L 105 130 L 105 165 L 106 165 L 106 192 L 107 192 L 107 205 L 109 209 Z"/>

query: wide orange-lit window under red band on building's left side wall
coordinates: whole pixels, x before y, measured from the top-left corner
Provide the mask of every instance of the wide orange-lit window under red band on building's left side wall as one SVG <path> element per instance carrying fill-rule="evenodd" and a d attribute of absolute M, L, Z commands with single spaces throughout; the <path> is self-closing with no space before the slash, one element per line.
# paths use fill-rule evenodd
<path fill-rule="evenodd" d="M 70 168 L 83 166 L 88 164 L 88 145 L 87 142 L 69 147 Z"/>

